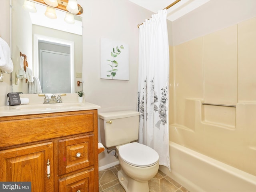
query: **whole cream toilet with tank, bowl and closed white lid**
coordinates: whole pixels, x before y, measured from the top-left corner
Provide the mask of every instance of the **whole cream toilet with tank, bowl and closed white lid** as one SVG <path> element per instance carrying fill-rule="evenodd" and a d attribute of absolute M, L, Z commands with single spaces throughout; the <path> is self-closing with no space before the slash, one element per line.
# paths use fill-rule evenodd
<path fill-rule="evenodd" d="M 118 180 L 126 192 L 148 192 L 148 180 L 159 168 L 159 155 L 149 146 L 136 142 L 140 113 L 118 111 L 98 114 L 101 143 L 108 152 L 115 148 L 121 170 Z"/>

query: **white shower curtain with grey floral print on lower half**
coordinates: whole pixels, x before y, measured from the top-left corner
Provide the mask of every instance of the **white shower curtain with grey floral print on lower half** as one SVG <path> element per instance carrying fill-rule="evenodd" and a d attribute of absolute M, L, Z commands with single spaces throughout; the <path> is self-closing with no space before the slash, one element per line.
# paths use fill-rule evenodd
<path fill-rule="evenodd" d="M 169 45 L 166 9 L 139 27 L 138 142 L 159 154 L 159 164 L 170 170 L 168 86 Z"/>

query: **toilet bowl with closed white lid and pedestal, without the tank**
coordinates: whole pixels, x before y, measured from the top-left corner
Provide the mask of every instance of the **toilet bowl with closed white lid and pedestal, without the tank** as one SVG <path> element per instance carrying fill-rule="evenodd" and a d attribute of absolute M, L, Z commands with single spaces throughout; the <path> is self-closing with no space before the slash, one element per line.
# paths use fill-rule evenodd
<path fill-rule="evenodd" d="M 118 180 L 126 192 L 148 192 L 148 180 L 159 168 L 158 153 L 152 148 L 137 143 L 116 146 L 121 170 Z"/>

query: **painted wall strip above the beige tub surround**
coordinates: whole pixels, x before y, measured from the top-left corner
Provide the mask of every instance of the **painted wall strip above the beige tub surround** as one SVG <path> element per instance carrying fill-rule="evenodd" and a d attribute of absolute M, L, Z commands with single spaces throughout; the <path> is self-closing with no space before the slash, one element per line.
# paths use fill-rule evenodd
<path fill-rule="evenodd" d="M 256 16 L 255 0 L 211 0 L 172 23 L 173 45 Z"/>

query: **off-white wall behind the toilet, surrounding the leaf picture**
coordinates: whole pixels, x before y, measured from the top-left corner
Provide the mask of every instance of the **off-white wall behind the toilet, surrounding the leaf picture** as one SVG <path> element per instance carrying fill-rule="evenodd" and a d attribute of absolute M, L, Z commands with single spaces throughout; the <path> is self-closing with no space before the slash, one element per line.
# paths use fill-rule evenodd
<path fill-rule="evenodd" d="M 83 81 L 86 101 L 101 106 L 100 112 L 136 110 L 138 81 L 138 27 L 152 12 L 128 0 L 79 1 L 83 17 Z M 100 79 L 100 38 L 129 45 L 129 81 Z M 100 132 L 99 132 L 100 140 Z M 99 155 L 99 167 L 116 161 Z"/>

